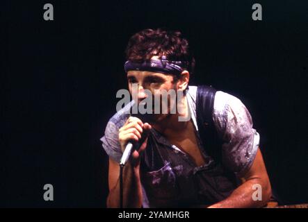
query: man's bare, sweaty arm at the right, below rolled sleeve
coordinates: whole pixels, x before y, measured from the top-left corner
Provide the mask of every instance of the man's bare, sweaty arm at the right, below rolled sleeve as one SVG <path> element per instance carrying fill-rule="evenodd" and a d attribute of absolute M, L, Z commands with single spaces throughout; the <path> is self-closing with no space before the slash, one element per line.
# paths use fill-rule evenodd
<path fill-rule="evenodd" d="M 257 151 L 252 167 L 241 179 L 244 181 L 243 184 L 235 189 L 228 198 L 209 208 L 263 207 L 266 205 L 271 196 L 271 187 L 260 150 Z M 252 198 L 254 192 L 257 191 L 252 187 L 256 184 L 261 185 L 261 200 Z"/>

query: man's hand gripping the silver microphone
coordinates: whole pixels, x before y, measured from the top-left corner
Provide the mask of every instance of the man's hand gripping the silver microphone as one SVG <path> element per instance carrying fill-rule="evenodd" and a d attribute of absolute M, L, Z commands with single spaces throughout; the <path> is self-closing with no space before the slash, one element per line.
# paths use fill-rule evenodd
<path fill-rule="evenodd" d="M 123 155 L 120 164 L 124 165 L 129 157 L 133 157 L 133 162 L 140 163 L 140 153 L 147 146 L 147 137 L 152 126 L 149 123 L 143 123 L 137 117 L 129 117 L 122 128 L 119 129 L 119 141 Z"/>

